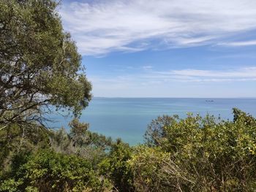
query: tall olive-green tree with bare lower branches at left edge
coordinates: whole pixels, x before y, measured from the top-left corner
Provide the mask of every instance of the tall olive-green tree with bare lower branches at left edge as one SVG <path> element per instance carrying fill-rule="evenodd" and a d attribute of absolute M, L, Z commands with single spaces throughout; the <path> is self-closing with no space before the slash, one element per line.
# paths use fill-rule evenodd
<path fill-rule="evenodd" d="M 91 99 L 57 6 L 53 0 L 0 1 L 0 128 L 42 123 L 51 105 L 77 117 Z"/>

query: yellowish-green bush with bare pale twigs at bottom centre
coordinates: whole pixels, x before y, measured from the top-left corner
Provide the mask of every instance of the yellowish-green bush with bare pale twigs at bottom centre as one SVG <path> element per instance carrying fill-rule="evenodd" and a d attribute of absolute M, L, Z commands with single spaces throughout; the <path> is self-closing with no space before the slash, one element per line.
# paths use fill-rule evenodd
<path fill-rule="evenodd" d="M 138 146 L 129 166 L 136 191 L 186 191 L 179 183 L 192 183 L 192 177 L 178 167 L 171 153 L 159 147 Z"/>

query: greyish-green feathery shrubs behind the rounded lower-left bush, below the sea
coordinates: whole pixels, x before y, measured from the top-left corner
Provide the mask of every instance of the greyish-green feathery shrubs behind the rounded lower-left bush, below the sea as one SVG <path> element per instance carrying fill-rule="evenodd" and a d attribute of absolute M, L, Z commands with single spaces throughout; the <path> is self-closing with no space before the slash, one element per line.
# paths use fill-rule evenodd
<path fill-rule="evenodd" d="M 97 165 L 110 150 L 112 139 L 88 130 L 89 123 L 74 119 L 69 123 L 69 134 L 64 128 L 50 132 L 50 145 L 59 152 L 75 154 Z"/>

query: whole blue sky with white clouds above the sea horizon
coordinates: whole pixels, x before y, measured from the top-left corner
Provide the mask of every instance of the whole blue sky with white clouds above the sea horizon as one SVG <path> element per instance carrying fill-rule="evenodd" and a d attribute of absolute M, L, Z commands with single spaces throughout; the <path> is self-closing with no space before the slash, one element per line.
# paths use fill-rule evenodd
<path fill-rule="evenodd" d="M 256 98 L 255 0 L 62 0 L 95 97 Z"/>

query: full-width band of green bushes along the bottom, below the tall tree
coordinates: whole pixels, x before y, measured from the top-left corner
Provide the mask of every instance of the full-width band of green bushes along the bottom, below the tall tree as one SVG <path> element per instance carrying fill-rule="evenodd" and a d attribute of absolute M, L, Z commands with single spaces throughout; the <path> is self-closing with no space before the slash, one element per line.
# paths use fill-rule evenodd
<path fill-rule="evenodd" d="M 255 191 L 256 120 L 163 116 L 146 144 L 40 126 L 1 129 L 0 191 Z"/>

